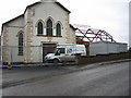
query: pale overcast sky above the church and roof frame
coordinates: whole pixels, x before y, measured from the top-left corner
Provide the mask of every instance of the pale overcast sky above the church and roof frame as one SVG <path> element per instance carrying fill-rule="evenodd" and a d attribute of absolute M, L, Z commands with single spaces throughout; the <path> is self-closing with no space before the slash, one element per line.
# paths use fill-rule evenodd
<path fill-rule="evenodd" d="M 23 14 L 25 8 L 39 0 L 1 0 L 0 26 Z M 90 25 L 104 29 L 118 42 L 129 44 L 130 0 L 58 0 L 71 11 L 71 24 Z M 1 28 L 0 28 L 1 30 Z"/>

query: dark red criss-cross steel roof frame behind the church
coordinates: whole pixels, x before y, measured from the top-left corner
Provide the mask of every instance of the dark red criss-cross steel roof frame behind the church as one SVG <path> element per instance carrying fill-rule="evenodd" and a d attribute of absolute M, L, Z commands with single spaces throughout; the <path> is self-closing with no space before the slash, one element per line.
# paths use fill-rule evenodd
<path fill-rule="evenodd" d="M 94 41 L 111 41 L 116 42 L 110 34 L 103 29 L 91 28 L 86 25 L 74 25 L 76 28 L 76 42 L 84 44 L 84 42 L 94 42 Z"/>

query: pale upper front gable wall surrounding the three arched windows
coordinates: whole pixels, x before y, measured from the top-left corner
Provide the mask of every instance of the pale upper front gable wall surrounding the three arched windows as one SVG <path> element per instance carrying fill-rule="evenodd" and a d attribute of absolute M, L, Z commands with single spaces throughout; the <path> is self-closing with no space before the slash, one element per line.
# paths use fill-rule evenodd
<path fill-rule="evenodd" d="M 49 16 L 53 19 L 53 36 L 56 35 L 56 23 L 60 21 L 62 23 L 63 29 L 61 30 L 62 37 L 52 37 L 52 41 L 58 41 L 58 44 L 66 44 L 66 11 L 63 11 L 56 3 L 40 3 L 32 8 L 35 11 L 33 17 L 33 42 L 32 45 L 40 45 L 41 41 L 48 41 L 47 37 L 37 36 L 37 27 L 35 26 L 38 20 L 45 22 Z M 46 35 L 46 28 L 44 28 L 44 35 Z"/>

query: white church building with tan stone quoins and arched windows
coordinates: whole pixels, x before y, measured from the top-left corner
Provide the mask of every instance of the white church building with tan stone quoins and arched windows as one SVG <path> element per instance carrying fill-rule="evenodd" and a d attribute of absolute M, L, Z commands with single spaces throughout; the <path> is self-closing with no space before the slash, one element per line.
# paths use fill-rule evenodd
<path fill-rule="evenodd" d="M 76 44 L 70 13 L 58 1 L 27 5 L 22 15 L 2 24 L 2 62 L 43 62 L 56 45 Z"/>

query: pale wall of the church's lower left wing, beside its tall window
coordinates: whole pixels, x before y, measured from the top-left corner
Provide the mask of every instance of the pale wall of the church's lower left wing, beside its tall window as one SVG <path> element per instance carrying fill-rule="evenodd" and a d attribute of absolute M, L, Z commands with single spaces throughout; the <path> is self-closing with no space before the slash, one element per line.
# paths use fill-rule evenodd
<path fill-rule="evenodd" d="M 23 62 L 24 61 L 24 57 L 23 56 L 19 56 L 19 48 L 16 46 L 19 46 L 19 37 L 17 34 L 19 32 L 23 32 L 24 33 L 24 17 L 21 16 L 10 23 L 8 23 L 8 44 L 9 44 L 9 59 L 8 61 L 11 62 Z"/>

